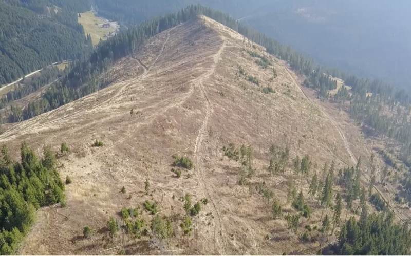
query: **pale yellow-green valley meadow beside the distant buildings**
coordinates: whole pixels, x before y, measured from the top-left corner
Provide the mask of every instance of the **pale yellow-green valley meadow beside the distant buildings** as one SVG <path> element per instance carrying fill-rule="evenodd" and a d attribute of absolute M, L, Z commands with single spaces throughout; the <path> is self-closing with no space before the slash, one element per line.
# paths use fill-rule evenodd
<path fill-rule="evenodd" d="M 97 45 L 100 41 L 106 40 L 107 37 L 104 35 L 108 35 L 110 32 L 114 32 L 114 28 L 103 28 L 102 25 L 106 22 L 97 17 L 92 11 L 88 11 L 85 13 L 81 13 L 81 18 L 79 18 L 79 23 L 84 27 L 84 33 L 91 35 L 91 41 L 93 45 Z M 96 25 L 97 24 L 97 25 Z"/>

